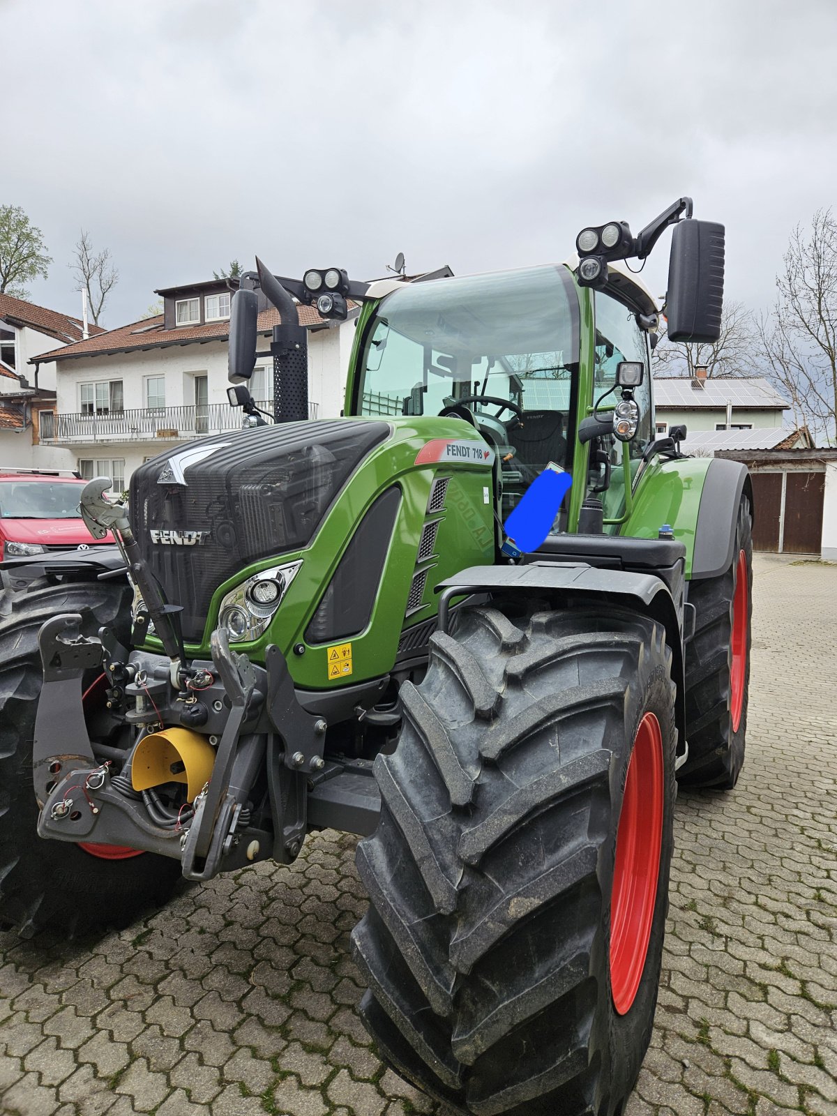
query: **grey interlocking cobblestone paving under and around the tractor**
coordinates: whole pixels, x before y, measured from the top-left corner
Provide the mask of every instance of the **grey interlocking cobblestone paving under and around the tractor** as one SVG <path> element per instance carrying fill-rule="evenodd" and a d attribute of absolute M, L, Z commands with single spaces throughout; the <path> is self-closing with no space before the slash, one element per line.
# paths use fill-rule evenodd
<path fill-rule="evenodd" d="M 837 568 L 759 557 L 754 603 L 747 764 L 732 793 L 680 796 L 626 1116 L 837 1114 Z M 0 934 L 0 1110 L 437 1113 L 354 1011 L 354 844 L 317 836 L 289 869 L 185 889 L 98 940 Z"/>

